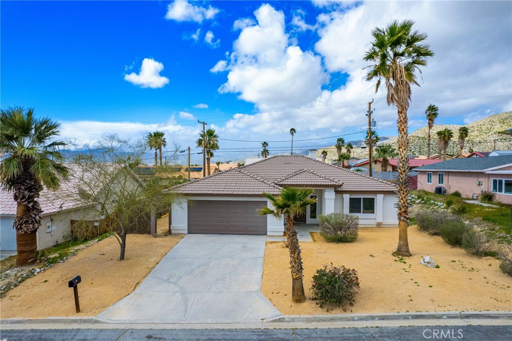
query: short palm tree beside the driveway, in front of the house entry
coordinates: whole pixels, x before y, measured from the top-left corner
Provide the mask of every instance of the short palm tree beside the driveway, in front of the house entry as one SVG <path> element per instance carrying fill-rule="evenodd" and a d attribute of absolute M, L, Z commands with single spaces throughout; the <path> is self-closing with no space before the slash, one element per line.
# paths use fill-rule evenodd
<path fill-rule="evenodd" d="M 298 244 L 297 231 L 293 226 L 293 219 L 296 216 L 304 214 L 307 207 L 316 202 L 316 199 L 309 198 L 313 194 L 313 189 L 284 187 L 279 196 L 273 196 L 269 193 L 263 195 L 270 200 L 274 209 L 263 207 L 260 209 L 260 215 L 272 215 L 276 218 L 285 217 L 286 219 L 286 245 L 290 252 L 290 269 L 292 278 L 292 300 L 296 303 L 306 301 L 304 294 L 303 267 L 301 248 Z"/>

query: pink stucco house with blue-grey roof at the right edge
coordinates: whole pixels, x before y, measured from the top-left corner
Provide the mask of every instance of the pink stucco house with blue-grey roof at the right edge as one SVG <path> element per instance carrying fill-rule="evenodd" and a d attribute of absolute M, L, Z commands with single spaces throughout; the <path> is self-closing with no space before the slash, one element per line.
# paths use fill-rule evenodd
<path fill-rule="evenodd" d="M 512 204 L 512 155 L 447 160 L 414 170 L 418 189 L 435 192 L 442 187 L 445 193 L 457 190 L 465 198 L 492 191 L 495 200 Z"/>

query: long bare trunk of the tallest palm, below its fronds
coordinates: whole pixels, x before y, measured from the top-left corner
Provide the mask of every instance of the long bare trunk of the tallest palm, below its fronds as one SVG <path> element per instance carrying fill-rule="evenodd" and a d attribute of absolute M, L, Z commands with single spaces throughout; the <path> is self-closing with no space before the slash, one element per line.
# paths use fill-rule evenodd
<path fill-rule="evenodd" d="M 396 253 L 410 256 L 407 228 L 409 227 L 409 139 L 407 109 L 398 107 L 398 247 Z"/>

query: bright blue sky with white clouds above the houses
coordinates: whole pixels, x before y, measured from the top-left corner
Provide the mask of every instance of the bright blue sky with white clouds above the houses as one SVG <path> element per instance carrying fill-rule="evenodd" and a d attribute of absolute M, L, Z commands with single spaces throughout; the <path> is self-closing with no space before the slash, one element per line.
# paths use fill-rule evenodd
<path fill-rule="evenodd" d="M 34 107 L 62 122 L 63 137 L 80 143 L 94 143 L 104 133 L 138 138 L 161 130 L 168 142 L 195 147 L 197 119 L 232 140 L 283 141 L 290 127 L 297 140 L 338 136 L 364 129 L 372 98 L 379 135 L 396 135 L 396 110 L 364 81 L 361 60 L 371 29 L 395 18 L 415 20 L 436 53 L 421 88 L 413 89 L 410 131 L 425 124 L 430 103 L 440 108 L 438 123 L 464 124 L 512 110 L 510 2 L 0 6 L 2 108 Z M 275 150 L 285 145 L 270 144 Z M 217 156 L 242 157 L 259 146 L 224 140 L 225 152 Z"/>

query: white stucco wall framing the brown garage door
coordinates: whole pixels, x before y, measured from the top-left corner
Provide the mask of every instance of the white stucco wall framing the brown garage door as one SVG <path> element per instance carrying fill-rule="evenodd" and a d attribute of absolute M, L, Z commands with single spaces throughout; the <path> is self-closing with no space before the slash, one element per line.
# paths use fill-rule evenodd
<path fill-rule="evenodd" d="M 189 197 L 182 198 L 173 202 L 171 212 L 171 225 L 172 233 L 187 233 L 188 232 L 188 206 L 187 200 L 233 200 L 233 201 L 264 201 L 262 197 Z M 273 208 L 269 200 L 267 207 Z M 269 236 L 283 236 L 285 227 L 284 220 L 274 218 L 271 215 L 267 216 L 267 235 Z"/>

